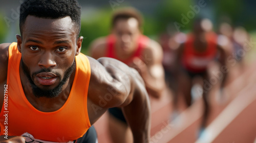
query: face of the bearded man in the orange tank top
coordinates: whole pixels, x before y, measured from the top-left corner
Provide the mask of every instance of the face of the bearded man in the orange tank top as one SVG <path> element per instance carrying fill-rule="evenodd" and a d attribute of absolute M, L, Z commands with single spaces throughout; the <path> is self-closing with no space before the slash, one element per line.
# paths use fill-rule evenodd
<path fill-rule="evenodd" d="M 29 15 L 22 39 L 20 36 L 17 39 L 18 50 L 22 53 L 22 67 L 32 80 L 30 82 L 34 83 L 32 85 L 52 90 L 61 82 L 66 83 L 75 69 L 74 60 L 80 46 L 70 17 L 45 19 Z M 68 78 L 63 83 L 65 76 Z"/>

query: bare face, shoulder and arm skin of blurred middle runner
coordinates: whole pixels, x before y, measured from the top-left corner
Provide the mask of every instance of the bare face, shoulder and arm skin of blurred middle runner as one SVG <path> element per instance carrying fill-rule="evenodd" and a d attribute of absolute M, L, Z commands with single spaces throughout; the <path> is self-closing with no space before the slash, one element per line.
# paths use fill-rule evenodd
<path fill-rule="evenodd" d="M 112 28 L 112 34 L 116 37 L 117 58 L 125 60 L 131 57 L 136 51 L 137 39 L 141 35 L 138 21 L 135 18 L 118 19 Z M 105 57 L 107 44 L 106 37 L 96 39 L 90 46 L 90 55 L 95 59 Z M 145 82 L 148 94 L 160 98 L 165 88 L 162 48 L 156 41 L 150 40 L 144 47 L 141 57 L 142 59 L 135 58 L 129 66 L 138 70 Z"/>

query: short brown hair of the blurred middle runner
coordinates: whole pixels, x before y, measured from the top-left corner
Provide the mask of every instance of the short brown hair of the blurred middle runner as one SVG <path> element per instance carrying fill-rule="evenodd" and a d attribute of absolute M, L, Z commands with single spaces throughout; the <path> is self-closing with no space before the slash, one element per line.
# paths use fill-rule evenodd
<path fill-rule="evenodd" d="M 143 25 L 143 17 L 141 13 L 135 8 L 128 7 L 116 10 L 112 15 L 112 28 L 115 27 L 116 21 L 119 19 L 135 18 L 138 21 L 139 28 Z"/>

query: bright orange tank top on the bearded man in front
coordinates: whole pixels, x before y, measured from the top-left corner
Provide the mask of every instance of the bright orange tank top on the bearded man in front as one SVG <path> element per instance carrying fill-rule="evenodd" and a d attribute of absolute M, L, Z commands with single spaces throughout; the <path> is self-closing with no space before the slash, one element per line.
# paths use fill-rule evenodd
<path fill-rule="evenodd" d="M 68 142 L 82 137 L 91 127 L 87 111 L 87 94 L 91 75 L 89 59 L 79 54 L 75 57 L 76 73 L 66 103 L 57 111 L 41 112 L 34 108 L 25 97 L 19 75 L 22 55 L 17 43 L 9 46 L 8 63 L 8 107 L 4 104 L 0 113 L 1 135 L 8 126 L 8 136 L 30 133 L 35 139 Z M 8 124 L 5 124 L 8 114 Z"/>

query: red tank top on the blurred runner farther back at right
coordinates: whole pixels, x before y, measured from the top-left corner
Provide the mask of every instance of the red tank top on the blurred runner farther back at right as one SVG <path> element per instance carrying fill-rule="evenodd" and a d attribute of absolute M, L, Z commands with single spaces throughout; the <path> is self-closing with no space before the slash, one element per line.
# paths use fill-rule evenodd
<path fill-rule="evenodd" d="M 207 47 L 204 52 L 197 52 L 194 49 L 194 36 L 188 35 L 184 44 L 182 64 L 193 72 L 200 73 L 206 70 L 207 65 L 217 56 L 217 35 L 214 33 L 206 34 Z"/>

